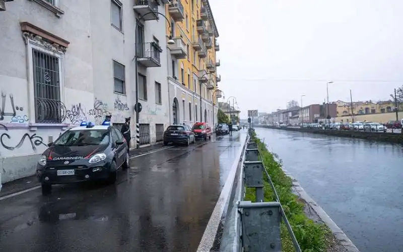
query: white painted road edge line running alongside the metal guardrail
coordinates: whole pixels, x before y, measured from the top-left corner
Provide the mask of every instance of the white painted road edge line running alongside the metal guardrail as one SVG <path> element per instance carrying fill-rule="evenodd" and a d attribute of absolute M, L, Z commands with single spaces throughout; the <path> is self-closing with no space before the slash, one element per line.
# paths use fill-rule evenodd
<path fill-rule="evenodd" d="M 235 182 L 235 176 L 239 165 L 239 158 L 242 155 L 243 147 L 246 144 L 246 139 L 243 141 L 242 146 L 240 146 L 237 155 L 235 156 L 235 161 L 232 163 L 231 170 L 228 174 L 227 180 L 225 181 L 224 187 L 221 190 L 220 197 L 217 200 L 216 206 L 210 216 L 210 220 L 207 223 L 205 232 L 201 237 L 200 243 L 197 247 L 196 252 L 210 251 L 214 245 L 214 240 L 216 239 L 217 230 L 221 222 L 224 211 L 226 210 L 227 201 L 231 195 L 232 187 Z"/>

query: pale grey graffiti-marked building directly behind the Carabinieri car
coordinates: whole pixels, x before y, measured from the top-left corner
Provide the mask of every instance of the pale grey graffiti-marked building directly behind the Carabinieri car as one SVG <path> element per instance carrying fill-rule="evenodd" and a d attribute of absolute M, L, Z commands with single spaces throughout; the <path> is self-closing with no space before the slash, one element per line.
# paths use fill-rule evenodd
<path fill-rule="evenodd" d="M 167 0 L 0 1 L 3 183 L 34 174 L 46 144 L 82 121 L 99 124 L 111 115 L 119 127 L 131 117 L 135 146 L 137 95 L 142 104 L 140 144 L 162 140 L 172 119 L 167 4 Z"/>

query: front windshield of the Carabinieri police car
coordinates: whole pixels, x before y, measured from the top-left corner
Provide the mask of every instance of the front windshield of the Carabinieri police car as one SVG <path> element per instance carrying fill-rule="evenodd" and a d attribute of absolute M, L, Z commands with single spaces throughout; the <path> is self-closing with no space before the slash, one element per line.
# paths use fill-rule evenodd
<path fill-rule="evenodd" d="M 62 134 L 53 144 L 54 145 L 99 145 L 109 143 L 109 130 L 69 130 Z"/>

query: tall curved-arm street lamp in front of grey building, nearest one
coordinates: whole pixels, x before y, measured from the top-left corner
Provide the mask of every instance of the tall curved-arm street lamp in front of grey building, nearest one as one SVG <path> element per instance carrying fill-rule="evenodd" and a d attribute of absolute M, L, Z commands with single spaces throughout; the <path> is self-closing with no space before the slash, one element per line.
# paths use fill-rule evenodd
<path fill-rule="evenodd" d="M 139 123 L 140 123 L 140 112 L 142 110 L 142 106 L 139 104 L 139 73 L 138 73 L 138 65 L 137 64 L 138 64 L 139 56 L 143 56 L 143 55 L 139 55 L 140 52 L 143 53 L 143 50 L 140 51 L 139 48 L 138 48 L 138 44 L 139 44 L 139 41 L 138 41 L 138 33 L 139 33 L 139 31 L 138 31 L 138 29 L 139 29 L 139 22 L 144 18 L 144 16 L 146 16 L 148 14 L 159 14 L 159 15 L 163 16 L 165 18 L 165 20 L 168 22 L 169 30 L 172 31 L 172 27 L 171 27 L 171 24 L 170 24 L 168 18 L 162 13 L 148 12 L 148 13 L 145 13 L 144 15 L 140 16 L 140 18 L 136 19 L 136 29 L 135 29 L 136 55 L 133 58 L 133 60 L 135 61 L 135 72 L 136 72 L 136 78 L 135 78 L 136 79 L 136 83 L 135 83 L 135 86 L 136 86 L 136 104 L 135 104 L 135 112 L 136 112 L 136 149 L 140 148 L 140 124 Z M 172 32 L 170 34 L 172 34 Z M 168 45 L 175 44 L 175 41 L 172 39 L 171 35 L 169 36 L 167 44 Z"/>

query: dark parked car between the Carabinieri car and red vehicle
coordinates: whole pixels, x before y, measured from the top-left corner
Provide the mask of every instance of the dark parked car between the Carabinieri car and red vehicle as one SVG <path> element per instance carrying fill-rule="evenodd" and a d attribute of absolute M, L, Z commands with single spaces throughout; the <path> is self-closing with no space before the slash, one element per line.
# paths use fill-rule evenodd
<path fill-rule="evenodd" d="M 186 144 L 194 143 L 194 133 L 187 125 L 170 125 L 164 132 L 164 145 L 168 143 Z"/>

